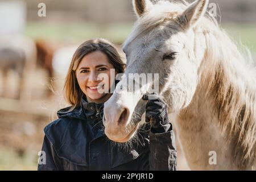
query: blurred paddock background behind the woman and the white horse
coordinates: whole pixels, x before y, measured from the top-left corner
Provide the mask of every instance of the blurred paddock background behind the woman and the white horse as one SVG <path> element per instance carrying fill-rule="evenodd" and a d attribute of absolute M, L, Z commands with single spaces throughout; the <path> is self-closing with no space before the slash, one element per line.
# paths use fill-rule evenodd
<path fill-rule="evenodd" d="M 256 1 L 210 3 L 255 60 Z M 135 19 L 131 0 L 0 0 L 0 170 L 37 169 L 43 128 L 67 106 L 62 89 L 75 49 L 100 37 L 125 57 L 121 44 Z M 178 159 L 188 170 L 180 149 Z"/>

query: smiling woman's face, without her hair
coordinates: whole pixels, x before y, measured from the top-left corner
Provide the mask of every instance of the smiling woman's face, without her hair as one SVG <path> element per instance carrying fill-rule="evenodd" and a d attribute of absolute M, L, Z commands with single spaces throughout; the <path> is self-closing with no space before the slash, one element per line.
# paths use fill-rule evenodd
<path fill-rule="evenodd" d="M 99 93 L 100 83 L 108 82 L 110 90 L 110 69 L 114 69 L 113 65 L 109 63 L 108 57 L 101 51 L 94 51 L 85 55 L 81 60 L 79 67 L 76 70 L 76 77 L 79 86 L 90 100 L 101 100 L 107 93 Z M 100 73 L 108 75 L 108 80 L 97 80 Z M 105 84 L 101 89 L 104 89 Z"/>

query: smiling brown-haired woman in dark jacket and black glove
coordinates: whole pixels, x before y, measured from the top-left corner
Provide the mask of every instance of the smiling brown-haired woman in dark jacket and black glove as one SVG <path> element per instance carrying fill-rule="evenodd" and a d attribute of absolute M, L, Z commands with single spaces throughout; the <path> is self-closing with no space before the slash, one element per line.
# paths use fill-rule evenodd
<path fill-rule="evenodd" d="M 117 75 L 125 64 L 107 40 L 89 40 L 76 50 L 64 87 L 71 107 L 58 111 L 59 119 L 44 129 L 46 163 L 38 170 L 176 170 L 174 132 L 159 97 L 148 101 L 147 123 L 134 141 L 118 144 L 104 134 L 103 107 L 112 94 L 98 90 L 110 90 L 110 69 Z M 100 73 L 108 79 L 98 80 Z"/>

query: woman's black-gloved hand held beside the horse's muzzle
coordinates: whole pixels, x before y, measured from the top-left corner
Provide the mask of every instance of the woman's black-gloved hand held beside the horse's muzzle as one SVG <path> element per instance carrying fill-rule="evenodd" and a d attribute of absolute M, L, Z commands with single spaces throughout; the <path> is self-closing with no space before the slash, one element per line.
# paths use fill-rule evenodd
<path fill-rule="evenodd" d="M 150 97 L 150 98 L 149 98 Z M 167 105 L 158 95 L 144 95 L 143 100 L 148 101 L 146 105 L 146 122 L 150 122 L 152 133 L 166 133 L 172 130 L 168 119 Z"/>

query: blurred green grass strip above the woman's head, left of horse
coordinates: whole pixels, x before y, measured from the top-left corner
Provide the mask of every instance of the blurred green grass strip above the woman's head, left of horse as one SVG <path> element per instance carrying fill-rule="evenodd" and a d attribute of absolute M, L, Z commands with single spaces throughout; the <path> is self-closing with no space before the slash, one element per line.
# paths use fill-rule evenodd
<path fill-rule="evenodd" d="M 84 42 L 92 38 L 106 38 L 122 43 L 131 31 L 132 24 L 100 25 L 96 23 L 36 23 L 27 24 L 25 35 L 34 39 L 59 42 Z"/>

